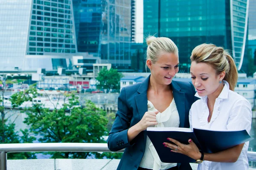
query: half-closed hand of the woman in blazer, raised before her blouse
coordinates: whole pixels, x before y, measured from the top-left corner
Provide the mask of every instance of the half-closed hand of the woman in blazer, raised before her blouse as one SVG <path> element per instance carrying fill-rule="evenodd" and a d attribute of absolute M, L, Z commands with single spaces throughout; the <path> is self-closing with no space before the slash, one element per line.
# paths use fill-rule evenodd
<path fill-rule="evenodd" d="M 141 131 L 146 130 L 151 125 L 157 125 L 157 113 L 159 111 L 155 112 L 145 112 L 143 118 L 138 122 L 139 127 L 141 128 Z"/>

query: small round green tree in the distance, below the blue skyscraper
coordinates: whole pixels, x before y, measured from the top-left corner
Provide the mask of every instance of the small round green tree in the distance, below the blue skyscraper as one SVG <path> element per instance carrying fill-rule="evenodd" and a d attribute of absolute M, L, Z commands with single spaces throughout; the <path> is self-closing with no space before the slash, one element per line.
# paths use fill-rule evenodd
<path fill-rule="evenodd" d="M 112 90 L 119 90 L 120 89 L 120 79 L 121 75 L 111 68 L 110 70 L 102 69 L 99 71 L 98 77 L 96 77 L 97 89 L 104 89 L 106 93 L 108 93 L 111 89 Z"/>

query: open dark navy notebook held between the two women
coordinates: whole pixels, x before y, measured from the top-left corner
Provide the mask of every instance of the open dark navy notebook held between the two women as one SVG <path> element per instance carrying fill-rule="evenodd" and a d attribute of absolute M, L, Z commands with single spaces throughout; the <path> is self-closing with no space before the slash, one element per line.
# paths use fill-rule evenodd
<path fill-rule="evenodd" d="M 189 144 L 188 140 L 192 139 L 205 153 L 215 153 L 253 139 L 246 130 L 212 131 L 196 128 L 193 130 L 194 132 L 190 128 L 148 127 L 147 135 L 157 150 L 160 160 L 166 163 L 195 162 L 186 155 L 173 153 L 170 148 L 164 147 L 163 142 L 170 142 L 167 138 L 176 139 L 183 144 Z"/>

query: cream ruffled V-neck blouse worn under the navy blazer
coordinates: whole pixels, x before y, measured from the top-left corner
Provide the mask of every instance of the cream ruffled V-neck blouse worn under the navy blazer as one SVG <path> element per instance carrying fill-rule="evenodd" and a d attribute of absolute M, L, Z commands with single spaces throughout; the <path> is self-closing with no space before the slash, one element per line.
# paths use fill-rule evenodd
<path fill-rule="evenodd" d="M 154 105 L 148 101 L 148 112 L 157 111 Z M 157 114 L 158 124 L 154 127 L 179 127 L 180 117 L 177 111 L 177 107 L 174 99 L 172 99 L 171 104 L 165 111 Z M 171 149 L 170 149 L 171 150 Z M 177 166 L 177 163 L 164 163 L 160 161 L 156 149 L 154 148 L 151 140 L 147 136 L 145 153 L 140 162 L 140 167 L 153 169 L 153 170 L 166 170 L 171 167 Z"/>

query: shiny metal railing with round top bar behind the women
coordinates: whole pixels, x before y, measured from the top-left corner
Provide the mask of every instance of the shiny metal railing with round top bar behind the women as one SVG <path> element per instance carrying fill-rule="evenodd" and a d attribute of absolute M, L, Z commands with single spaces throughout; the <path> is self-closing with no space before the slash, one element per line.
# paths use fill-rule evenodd
<path fill-rule="evenodd" d="M 118 152 L 123 152 L 119 150 Z M 111 152 L 106 143 L 24 143 L 0 144 L 0 170 L 7 170 L 9 152 Z M 256 152 L 248 151 L 248 161 L 256 161 Z"/>

